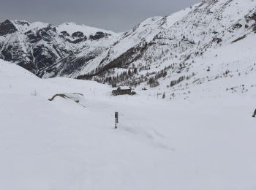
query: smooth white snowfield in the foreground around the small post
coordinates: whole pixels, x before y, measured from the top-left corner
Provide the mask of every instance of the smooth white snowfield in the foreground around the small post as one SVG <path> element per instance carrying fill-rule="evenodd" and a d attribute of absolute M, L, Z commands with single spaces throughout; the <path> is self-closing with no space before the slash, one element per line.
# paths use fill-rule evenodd
<path fill-rule="evenodd" d="M 0 189 L 256 188 L 254 72 L 192 86 L 186 100 L 157 99 L 158 88 L 110 96 L 1 60 L 0 81 Z M 249 91 L 226 91 L 240 84 Z M 83 94 L 86 107 L 48 101 L 60 93 Z"/>

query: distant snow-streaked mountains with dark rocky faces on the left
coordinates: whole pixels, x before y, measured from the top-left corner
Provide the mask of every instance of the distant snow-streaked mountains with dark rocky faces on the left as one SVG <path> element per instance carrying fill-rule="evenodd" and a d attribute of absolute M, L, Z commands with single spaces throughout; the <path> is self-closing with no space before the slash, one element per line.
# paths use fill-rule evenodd
<path fill-rule="evenodd" d="M 116 36 L 112 31 L 75 23 L 52 26 L 5 20 L 0 24 L 0 58 L 37 73 L 81 50 L 105 49 Z"/>

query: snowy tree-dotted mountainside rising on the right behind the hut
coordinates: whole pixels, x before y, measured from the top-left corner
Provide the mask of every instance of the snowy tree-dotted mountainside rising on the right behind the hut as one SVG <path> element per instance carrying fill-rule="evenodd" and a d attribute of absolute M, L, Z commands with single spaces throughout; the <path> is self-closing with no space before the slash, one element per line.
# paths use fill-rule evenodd
<path fill-rule="evenodd" d="M 212 69 L 213 67 L 219 69 L 218 73 L 212 73 L 213 78 L 218 77 L 227 71 L 226 66 L 222 66 L 222 68 L 219 67 L 219 64 L 211 66 L 208 65 L 207 61 L 204 61 L 203 66 L 197 65 L 203 62 L 204 58 L 207 58 L 207 53 L 218 49 L 230 49 L 233 46 L 239 46 L 246 38 L 254 38 L 255 9 L 255 1 L 250 0 L 203 1 L 191 9 L 186 9 L 167 18 L 154 19 L 157 21 L 155 23 L 152 21 L 153 23 L 150 24 L 150 28 L 154 29 L 149 29 L 149 31 L 154 31 L 156 34 L 151 37 L 151 33 L 146 32 L 148 26 L 145 25 L 145 37 L 141 39 L 139 45 L 131 47 L 121 56 L 118 50 L 121 47 L 126 47 L 125 45 L 129 44 L 128 42 L 125 45 L 121 44 L 120 47 L 118 47 L 118 44 L 111 47 L 108 58 L 105 58 L 102 62 L 104 74 L 102 78 L 97 75 L 95 80 L 100 78 L 99 81 L 104 81 L 105 76 L 110 75 L 112 80 L 118 80 L 118 83 L 138 85 L 147 81 L 151 86 L 157 86 L 159 83 L 157 80 L 163 78 L 167 78 L 169 84 L 172 81 L 173 84 L 176 81 L 179 83 L 182 78 L 189 79 L 190 77 L 193 80 L 202 81 L 208 80 L 202 75 L 207 76 L 211 67 Z M 136 28 L 142 32 L 140 25 L 135 27 L 135 30 Z M 138 31 L 135 31 L 135 34 L 138 33 Z M 135 34 L 132 34 L 132 36 Z M 140 37 L 136 37 L 136 39 L 140 39 Z M 122 42 L 124 40 L 119 43 Z M 251 52 L 255 49 L 251 49 L 250 43 L 245 48 L 244 51 L 248 49 Z M 235 60 L 236 58 L 240 59 L 237 54 L 232 53 L 228 57 L 235 56 Z M 214 56 L 214 58 L 217 58 L 221 55 L 215 54 Z M 104 64 L 106 65 L 105 68 Z M 110 66 L 127 69 L 104 72 Z M 197 69 L 193 69 L 195 67 Z M 134 68 L 137 72 L 132 72 Z M 129 69 L 132 74 L 123 76 L 122 72 L 126 71 L 128 73 Z M 239 70 L 239 68 L 237 69 Z M 121 72 L 118 72 L 118 70 L 121 70 Z M 119 75 L 118 78 L 116 78 L 116 74 Z M 122 76 L 120 77 L 120 75 Z"/>

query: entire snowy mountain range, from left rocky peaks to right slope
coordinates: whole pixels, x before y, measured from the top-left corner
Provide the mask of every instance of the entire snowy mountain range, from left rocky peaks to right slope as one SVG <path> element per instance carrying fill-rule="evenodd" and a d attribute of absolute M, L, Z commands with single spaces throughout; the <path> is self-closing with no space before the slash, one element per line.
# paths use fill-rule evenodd
<path fill-rule="evenodd" d="M 186 80 L 192 85 L 252 66 L 233 63 L 244 61 L 244 52 L 254 53 L 251 42 L 243 53 L 233 49 L 255 38 L 255 14 L 256 1 L 202 1 L 173 15 L 148 18 L 121 34 L 75 23 L 6 20 L 0 26 L 0 58 L 39 77 L 145 87 L 161 82 L 171 88 Z"/>

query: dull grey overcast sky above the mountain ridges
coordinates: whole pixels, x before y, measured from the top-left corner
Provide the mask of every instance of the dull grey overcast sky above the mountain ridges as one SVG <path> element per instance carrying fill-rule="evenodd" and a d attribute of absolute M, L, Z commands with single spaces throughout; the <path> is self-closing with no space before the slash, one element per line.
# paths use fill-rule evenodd
<path fill-rule="evenodd" d="M 165 16 L 200 0 L 0 0 L 0 21 L 73 21 L 113 31 L 126 31 L 152 16 Z"/>

